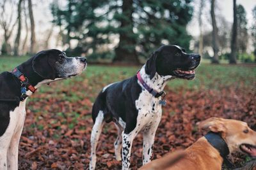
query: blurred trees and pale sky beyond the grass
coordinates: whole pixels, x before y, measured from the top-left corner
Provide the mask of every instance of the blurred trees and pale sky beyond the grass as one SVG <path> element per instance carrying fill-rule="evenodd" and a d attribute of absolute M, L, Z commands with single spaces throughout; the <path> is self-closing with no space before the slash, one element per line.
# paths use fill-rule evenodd
<path fill-rule="evenodd" d="M 138 64 L 169 44 L 208 62 L 255 62 L 254 0 L 0 0 L 0 14 L 1 55 L 58 48 Z"/>

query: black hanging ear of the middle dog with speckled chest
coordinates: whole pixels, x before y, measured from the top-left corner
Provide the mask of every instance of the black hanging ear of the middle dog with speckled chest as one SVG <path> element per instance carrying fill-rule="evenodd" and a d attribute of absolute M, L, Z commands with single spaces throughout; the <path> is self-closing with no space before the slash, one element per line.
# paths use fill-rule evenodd
<path fill-rule="evenodd" d="M 152 53 L 150 58 L 146 62 L 145 72 L 149 74 L 150 80 L 155 76 L 156 74 L 156 59 L 159 51 Z"/>

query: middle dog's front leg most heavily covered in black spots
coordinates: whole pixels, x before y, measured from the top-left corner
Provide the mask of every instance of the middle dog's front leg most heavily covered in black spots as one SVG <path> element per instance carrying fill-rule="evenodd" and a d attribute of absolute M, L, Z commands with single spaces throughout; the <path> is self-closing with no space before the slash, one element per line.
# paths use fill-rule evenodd
<path fill-rule="evenodd" d="M 130 158 L 131 158 L 131 148 L 132 148 L 132 141 L 134 139 L 134 132 L 130 132 L 129 134 L 125 134 L 122 132 L 122 169 L 130 169 Z"/>

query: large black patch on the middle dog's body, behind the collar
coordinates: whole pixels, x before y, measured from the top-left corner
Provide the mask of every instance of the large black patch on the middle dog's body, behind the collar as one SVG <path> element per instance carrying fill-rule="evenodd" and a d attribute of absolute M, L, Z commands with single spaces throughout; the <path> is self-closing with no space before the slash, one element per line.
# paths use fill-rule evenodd
<path fill-rule="evenodd" d="M 119 117 L 126 122 L 125 133 L 131 132 L 137 123 L 138 110 L 135 101 L 141 93 L 141 87 L 136 76 L 120 81 L 100 92 L 92 109 L 92 118 L 95 122 L 100 110 L 104 111 L 104 120 L 111 122 Z M 115 94 L 115 95 L 113 95 Z"/>

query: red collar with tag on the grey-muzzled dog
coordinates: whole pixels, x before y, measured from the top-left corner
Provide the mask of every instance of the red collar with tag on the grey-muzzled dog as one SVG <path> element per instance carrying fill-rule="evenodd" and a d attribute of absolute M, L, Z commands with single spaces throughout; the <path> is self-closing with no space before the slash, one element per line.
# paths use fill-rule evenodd
<path fill-rule="evenodd" d="M 17 78 L 19 78 L 21 87 L 35 93 L 36 88 L 29 83 L 28 78 L 26 78 L 26 76 L 24 76 L 24 74 L 21 73 L 17 67 L 13 69 L 12 74 L 15 75 Z M 26 92 L 24 92 L 24 89 L 21 88 L 21 94 L 26 94 Z"/>

